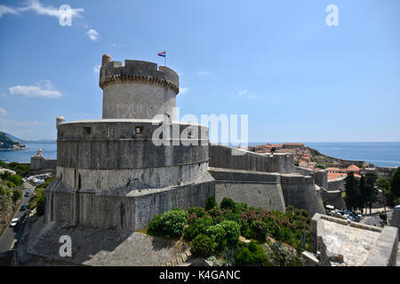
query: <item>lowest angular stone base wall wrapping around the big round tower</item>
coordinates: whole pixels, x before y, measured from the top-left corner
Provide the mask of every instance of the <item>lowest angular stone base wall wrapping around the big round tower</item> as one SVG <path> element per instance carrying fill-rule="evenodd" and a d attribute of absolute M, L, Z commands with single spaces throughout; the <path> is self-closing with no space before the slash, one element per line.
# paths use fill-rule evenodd
<path fill-rule="evenodd" d="M 45 189 L 44 222 L 133 232 L 145 228 L 156 214 L 204 207 L 209 195 L 215 195 L 215 181 L 207 172 L 191 184 L 145 189 L 127 185 L 113 193 L 71 190 L 56 178 Z"/>

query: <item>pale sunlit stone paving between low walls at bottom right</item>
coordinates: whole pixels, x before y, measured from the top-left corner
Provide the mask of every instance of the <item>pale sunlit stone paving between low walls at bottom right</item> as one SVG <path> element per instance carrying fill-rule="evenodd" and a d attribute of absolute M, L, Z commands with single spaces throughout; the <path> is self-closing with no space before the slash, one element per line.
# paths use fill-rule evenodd
<path fill-rule="evenodd" d="M 380 233 L 341 225 L 323 220 L 325 229 L 324 244 L 334 266 L 359 266 L 364 264 Z"/>

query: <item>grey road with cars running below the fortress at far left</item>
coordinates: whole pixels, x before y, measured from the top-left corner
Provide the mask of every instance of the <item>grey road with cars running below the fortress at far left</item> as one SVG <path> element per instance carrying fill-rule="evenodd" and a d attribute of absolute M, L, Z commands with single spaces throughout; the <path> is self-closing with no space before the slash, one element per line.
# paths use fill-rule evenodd
<path fill-rule="evenodd" d="M 29 197 L 25 197 L 25 193 L 28 191 L 29 193 L 32 192 L 35 187 L 27 182 L 24 182 L 24 190 L 23 190 L 23 200 L 20 203 L 20 206 L 22 205 L 28 205 L 28 201 L 29 201 Z M 12 218 L 19 218 L 20 221 L 26 217 L 28 211 L 24 210 L 24 211 L 20 211 L 20 208 L 18 209 L 18 211 L 16 211 L 16 213 L 14 214 L 14 216 Z M 7 228 L 5 228 L 3 235 L 0 237 L 0 253 L 10 250 L 12 249 L 12 245 L 15 241 L 15 236 L 17 235 L 17 233 L 20 231 L 20 223 L 18 222 L 18 224 L 14 227 L 10 227 L 8 226 Z"/>

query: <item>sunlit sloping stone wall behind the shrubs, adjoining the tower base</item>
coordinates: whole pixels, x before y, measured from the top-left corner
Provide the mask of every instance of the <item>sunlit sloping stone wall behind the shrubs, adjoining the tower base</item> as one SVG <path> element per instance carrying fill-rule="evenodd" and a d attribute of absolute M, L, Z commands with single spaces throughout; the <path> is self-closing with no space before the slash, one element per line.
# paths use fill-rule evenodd
<path fill-rule="evenodd" d="M 218 203 L 228 197 L 255 208 L 284 212 L 280 175 L 218 168 L 210 168 L 209 172 L 215 179 L 215 198 Z"/>

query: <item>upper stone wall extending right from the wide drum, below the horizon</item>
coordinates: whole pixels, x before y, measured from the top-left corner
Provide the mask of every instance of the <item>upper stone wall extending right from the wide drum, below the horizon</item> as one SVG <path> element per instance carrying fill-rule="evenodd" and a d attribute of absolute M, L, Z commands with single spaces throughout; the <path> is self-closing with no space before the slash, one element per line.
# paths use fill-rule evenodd
<path fill-rule="evenodd" d="M 280 173 L 294 172 L 293 154 L 257 154 L 216 144 L 211 144 L 209 151 L 210 167 L 213 168 Z M 245 154 L 235 154 L 235 151 L 244 151 Z"/>

